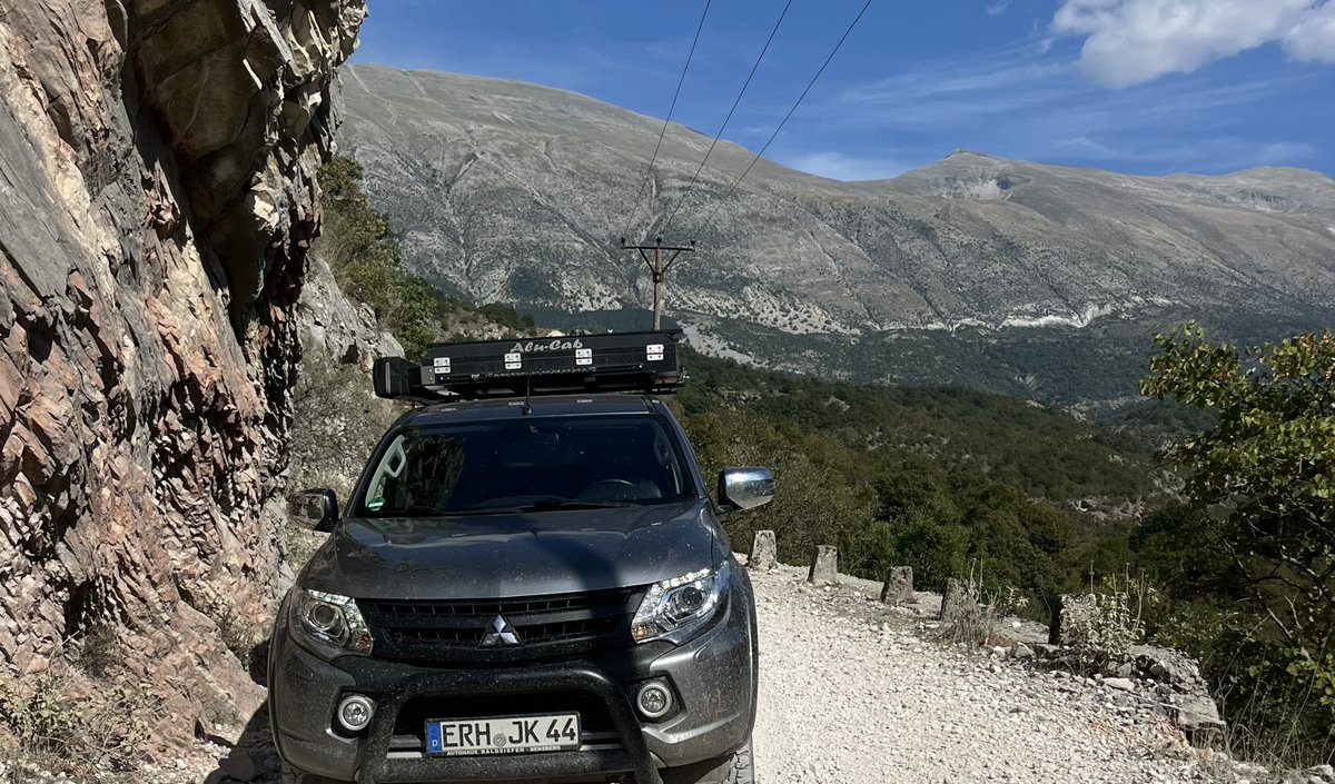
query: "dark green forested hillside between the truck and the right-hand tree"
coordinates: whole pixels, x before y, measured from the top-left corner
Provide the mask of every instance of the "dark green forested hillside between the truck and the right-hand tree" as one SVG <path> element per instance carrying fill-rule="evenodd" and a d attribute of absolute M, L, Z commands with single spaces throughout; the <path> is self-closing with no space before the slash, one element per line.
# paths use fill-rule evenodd
<path fill-rule="evenodd" d="M 773 528 L 789 563 L 837 543 L 842 568 L 872 579 L 906 564 L 939 589 L 973 569 L 1045 617 L 1091 568 L 1121 568 L 1136 515 L 1169 488 L 1139 437 L 1035 403 L 686 361 L 673 405 L 708 475 L 761 464 L 780 485 L 729 521 L 737 547 Z"/>

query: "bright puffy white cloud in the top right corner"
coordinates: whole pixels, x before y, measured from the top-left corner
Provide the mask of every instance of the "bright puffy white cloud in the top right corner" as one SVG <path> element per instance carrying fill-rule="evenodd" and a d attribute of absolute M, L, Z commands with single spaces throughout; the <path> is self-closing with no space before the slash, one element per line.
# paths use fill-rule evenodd
<path fill-rule="evenodd" d="M 1065 0 L 1059 35 L 1084 36 L 1080 69 L 1107 87 L 1279 43 L 1295 60 L 1335 63 L 1335 0 Z"/>

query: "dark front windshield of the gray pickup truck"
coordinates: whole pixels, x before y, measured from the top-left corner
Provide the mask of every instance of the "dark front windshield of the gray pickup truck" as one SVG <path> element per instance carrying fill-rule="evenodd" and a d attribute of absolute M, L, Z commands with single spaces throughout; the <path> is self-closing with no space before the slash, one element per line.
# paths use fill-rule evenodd
<path fill-rule="evenodd" d="M 692 497 L 677 439 L 651 415 L 409 428 L 379 452 L 354 513 L 371 517 L 666 504 Z"/>

